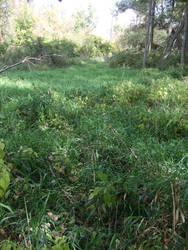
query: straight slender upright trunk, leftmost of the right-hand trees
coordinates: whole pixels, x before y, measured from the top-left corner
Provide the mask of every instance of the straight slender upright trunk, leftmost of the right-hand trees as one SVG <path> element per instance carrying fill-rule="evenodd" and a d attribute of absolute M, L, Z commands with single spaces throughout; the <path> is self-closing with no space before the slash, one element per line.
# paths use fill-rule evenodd
<path fill-rule="evenodd" d="M 155 4 L 156 0 L 149 1 L 149 11 L 148 11 L 148 21 L 147 21 L 147 31 L 145 39 L 145 49 L 144 49 L 144 59 L 143 67 L 146 67 L 146 61 L 148 54 L 153 46 L 153 30 L 154 30 L 154 17 L 155 17 Z"/>

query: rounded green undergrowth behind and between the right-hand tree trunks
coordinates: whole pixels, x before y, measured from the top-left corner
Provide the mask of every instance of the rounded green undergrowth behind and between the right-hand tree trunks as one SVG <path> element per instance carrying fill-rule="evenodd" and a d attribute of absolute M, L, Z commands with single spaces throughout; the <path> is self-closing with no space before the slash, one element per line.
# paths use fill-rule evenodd
<path fill-rule="evenodd" d="M 112 67 L 135 67 L 142 68 L 144 55 L 144 28 L 141 26 L 133 26 L 126 28 L 117 34 L 115 41 L 116 51 L 109 58 L 109 63 Z M 165 50 L 167 34 L 164 30 L 155 30 L 154 33 L 154 48 L 147 58 L 147 67 L 158 67 L 161 69 L 180 66 L 180 46 L 179 41 L 168 58 L 163 64 L 160 64 L 161 56 Z M 179 46 L 179 47 L 178 47 Z"/>

